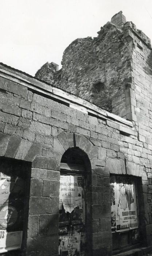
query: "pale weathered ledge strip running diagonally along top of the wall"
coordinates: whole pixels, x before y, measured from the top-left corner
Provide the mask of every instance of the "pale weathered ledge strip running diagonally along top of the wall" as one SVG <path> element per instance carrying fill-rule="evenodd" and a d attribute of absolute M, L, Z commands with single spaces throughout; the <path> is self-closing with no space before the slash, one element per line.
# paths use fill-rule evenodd
<path fill-rule="evenodd" d="M 68 105 L 70 108 L 77 109 L 90 116 L 104 119 L 106 120 L 108 126 L 118 129 L 124 132 L 126 135 L 137 136 L 137 132 L 133 128 L 131 121 L 101 109 L 86 100 L 59 89 L 58 87 L 44 83 L 22 71 L 13 69 L 7 65 L 4 65 L 3 63 L 0 63 L 0 76 L 26 86 L 31 90 L 35 90 L 44 96 L 47 95 L 55 101 L 63 102 L 63 104 Z"/>

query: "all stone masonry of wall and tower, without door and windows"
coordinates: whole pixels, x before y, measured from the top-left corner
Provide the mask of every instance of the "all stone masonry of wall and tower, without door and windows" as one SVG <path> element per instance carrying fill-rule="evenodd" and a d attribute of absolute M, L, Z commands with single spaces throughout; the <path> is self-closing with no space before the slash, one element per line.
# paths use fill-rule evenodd
<path fill-rule="evenodd" d="M 0 64 L 0 157 L 31 166 L 18 255 L 58 255 L 60 163 L 75 147 L 91 166 L 87 255 L 112 255 L 110 174 L 138 179 L 140 246 L 152 246 L 152 49 L 118 16 L 120 27 L 108 22 L 97 38 L 72 42 L 61 71 L 47 63 L 47 80 L 44 65 L 37 74 L 47 83 Z"/>

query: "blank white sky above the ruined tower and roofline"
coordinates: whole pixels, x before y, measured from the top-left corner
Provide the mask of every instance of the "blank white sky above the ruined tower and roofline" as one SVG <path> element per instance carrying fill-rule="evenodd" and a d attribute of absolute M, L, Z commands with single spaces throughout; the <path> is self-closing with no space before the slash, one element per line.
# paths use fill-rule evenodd
<path fill-rule="evenodd" d="M 152 40 L 152 0 L 0 0 L 0 62 L 30 75 L 122 11 Z"/>

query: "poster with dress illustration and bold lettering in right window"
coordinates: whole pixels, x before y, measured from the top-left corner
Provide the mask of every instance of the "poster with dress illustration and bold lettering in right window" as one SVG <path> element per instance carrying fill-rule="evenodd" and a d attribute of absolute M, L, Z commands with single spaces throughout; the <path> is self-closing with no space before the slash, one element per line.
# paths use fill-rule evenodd
<path fill-rule="evenodd" d="M 132 177 L 111 176 L 112 231 L 137 229 L 136 182 Z"/>

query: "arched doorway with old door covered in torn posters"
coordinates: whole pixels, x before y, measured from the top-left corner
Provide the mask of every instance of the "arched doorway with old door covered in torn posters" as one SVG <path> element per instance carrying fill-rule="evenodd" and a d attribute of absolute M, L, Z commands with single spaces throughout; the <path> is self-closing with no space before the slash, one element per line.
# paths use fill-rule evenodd
<path fill-rule="evenodd" d="M 69 148 L 63 154 L 59 196 L 60 256 L 91 255 L 88 246 L 91 245 L 90 171 L 89 158 L 80 148 Z"/>

